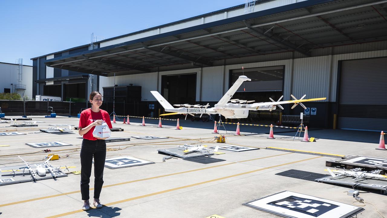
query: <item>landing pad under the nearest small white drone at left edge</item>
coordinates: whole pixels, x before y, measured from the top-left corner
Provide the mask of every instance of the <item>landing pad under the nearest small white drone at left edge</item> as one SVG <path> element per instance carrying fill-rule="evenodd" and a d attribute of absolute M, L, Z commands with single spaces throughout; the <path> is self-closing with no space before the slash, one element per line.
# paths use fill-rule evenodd
<path fill-rule="evenodd" d="M 38 165 L 41 165 L 42 167 L 44 166 L 43 163 L 37 163 L 37 164 L 31 164 L 31 168 L 36 168 L 36 166 L 38 166 Z M 24 172 L 24 176 L 23 176 L 23 168 L 25 168 L 25 167 L 26 167 L 26 165 L 2 167 L 1 168 L 2 171 L 0 172 L 0 185 L 9 185 L 9 184 L 14 184 L 14 183 L 33 181 L 33 178 L 29 172 L 27 172 L 27 171 Z M 50 166 L 50 167 L 53 167 L 53 166 Z M 15 170 L 16 175 L 14 175 L 12 173 L 12 169 Z M 18 171 L 16 171 L 16 170 L 18 170 Z M 59 170 L 57 175 L 55 175 L 55 178 L 63 177 L 63 176 L 67 176 L 67 174 L 63 173 L 62 170 Z M 52 178 L 53 177 L 48 170 L 46 170 L 46 176 L 35 175 L 36 180 L 44 180 L 44 179 L 52 179 Z"/>

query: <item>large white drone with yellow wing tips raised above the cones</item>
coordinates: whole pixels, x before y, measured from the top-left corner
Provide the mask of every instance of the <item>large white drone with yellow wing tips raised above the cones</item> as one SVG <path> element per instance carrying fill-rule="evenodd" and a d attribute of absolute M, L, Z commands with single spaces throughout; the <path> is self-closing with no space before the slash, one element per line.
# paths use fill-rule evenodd
<path fill-rule="evenodd" d="M 173 114 L 190 114 L 194 116 L 194 114 L 221 114 L 225 118 L 247 118 L 248 111 L 272 111 L 276 109 L 278 106 L 281 109 L 284 109 L 281 104 L 294 104 L 291 108 L 293 109 L 298 104 L 300 104 L 303 108 L 306 109 L 306 107 L 301 102 L 308 102 L 308 101 L 318 101 L 318 100 L 325 100 L 326 98 L 317 98 L 317 99 L 303 99 L 306 95 L 301 97 L 301 99 L 296 99 L 293 95 L 291 97 L 295 100 L 288 100 L 288 101 L 280 101 L 281 98 L 279 98 L 277 101 L 274 101 L 273 99 L 269 98 L 271 102 L 260 102 L 260 103 L 253 103 L 248 104 L 250 102 L 254 102 L 254 100 L 247 101 L 247 100 L 239 100 L 239 99 L 231 99 L 240 87 L 240 85 L 244 81 L 251 81 L 251 79 L 247 78 L 247 76 L 239 76 L 238 80 L 235 81 L 233 86 L 224 94 L 224 96 L 217 102 L 217 104 L 214 105 L 214 107 L 207 108 L 209 104 L 205 106 L 201 105 L 189 105 L 189 104 L 174 104 L 174 106 L 178 106 L 178 108 L 174 108 L 167 100 L 164 99 L 163 96 L 160 95 L 157 91 L 151 91 L 152 95 L 158 100 L 158 102 L 161 104 L 161 106 L 164 107 L 165 111 L 167 112 L 173 112 L 169 114 L 161 114 L 163 115 L 173 115 Z M 274 103 L 273 103 L 274 102 Z M 187 118 L 187 116 L 186 116 Z"/>

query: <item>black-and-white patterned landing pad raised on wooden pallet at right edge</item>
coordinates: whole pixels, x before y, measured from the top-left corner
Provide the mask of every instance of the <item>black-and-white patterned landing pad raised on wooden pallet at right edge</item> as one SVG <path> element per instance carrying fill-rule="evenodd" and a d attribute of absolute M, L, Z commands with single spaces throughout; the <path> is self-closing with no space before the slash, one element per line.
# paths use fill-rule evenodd
<path fill-rule="evenodd" d="M 325 162 L 329 167 L 345 167 L 346 169 L 364 168 L 366 171 L 383 170 L 387 173 L 387 159 L 381 157 L 353 156 L 345 159 L 333 159 Z"/>

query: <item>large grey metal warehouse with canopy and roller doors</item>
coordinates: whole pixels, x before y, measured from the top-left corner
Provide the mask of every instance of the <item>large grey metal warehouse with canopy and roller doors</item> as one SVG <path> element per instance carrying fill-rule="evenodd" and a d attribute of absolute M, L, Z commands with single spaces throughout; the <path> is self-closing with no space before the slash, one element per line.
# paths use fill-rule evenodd
<path fill-rule="evenodd" d="M 127 101 L 214 104 L 245 74 L 235 98 L 327 97 L 307 103 L 311 125 L 380 131 L 386 73 L 387 0 L 257 0 L 35 57 L 33 92 L 106 101 L 118 85 Z"/>

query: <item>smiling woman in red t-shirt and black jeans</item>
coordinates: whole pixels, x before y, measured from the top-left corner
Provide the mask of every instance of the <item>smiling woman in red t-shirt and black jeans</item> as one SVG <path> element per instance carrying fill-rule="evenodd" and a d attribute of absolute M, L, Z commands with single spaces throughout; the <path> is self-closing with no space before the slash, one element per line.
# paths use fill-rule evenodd
<path fill-rule="evenodd" d="M 80 192 L 84 201 L 82 209 L 90 209 L 89 202 L 89 182 L 91 175 L 91 165 L 94 157 L 94 202 L 96 208 L 102 208 L 99 201 L 103 184 L 103 168 L 106 157 L 106 138 L 96 138 L 93 136 L 95 126 L 106 122 L 112 128 L 108 112 L 99 109 L 102 104 L 102 95 L 99 92 L 90 93 L 89 101 L 91 108 L 80 113 L 79 135 L 83 136 L 82 148 L 80 149 Z"/>

